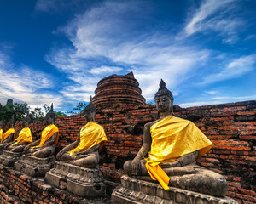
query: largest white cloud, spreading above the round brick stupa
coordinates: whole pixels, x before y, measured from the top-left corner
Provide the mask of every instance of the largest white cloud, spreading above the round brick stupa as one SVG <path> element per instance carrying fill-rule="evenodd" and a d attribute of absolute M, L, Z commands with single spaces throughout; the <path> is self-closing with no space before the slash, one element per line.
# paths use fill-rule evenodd
<path fill-rule="evenodd" d="M 177 45 L 170 40 L 174 38 L 171 34 L 160 31 L 138 32 L 137 27 L 143 26 L 141 20 L 149 18 L 145 9 L 136 1 L 108 1 L 77 15 L 60 29 L 73 48 L 53 48 L 46 60 L 76 82 L 63 93 L 76 89 L 78 94 L 93 94 L 102 77 L 133 71 L 143 96 L 151 100 L 160 78 L 169 88 L 176 88 L 195 74 L 208 59 L 209 51 Z"/>

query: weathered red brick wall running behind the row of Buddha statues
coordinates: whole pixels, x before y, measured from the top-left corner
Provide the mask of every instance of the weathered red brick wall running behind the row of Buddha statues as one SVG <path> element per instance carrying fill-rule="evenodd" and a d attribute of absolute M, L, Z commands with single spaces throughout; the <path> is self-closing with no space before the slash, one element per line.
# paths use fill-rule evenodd
<path fill-rule="evenodd" d="M 195 122 L 215 144 L 197 163 L 227 178 L 230 187 L 226 195 L 240 203 L 255 203 L 256 100 L 187 109 L 175 106 L 174 112 L 175 116 Z M 123 163 L 132 159 L 142 144 L 143 124 L 155 118 L 154 105 L 97 111 L 96 122 L 108 136 L 101 151 L 105 178 L 119 180 Z M 76 139 L 79 127 L 86 122 L 84 116 L 76 115 L 58 117 L 55 123 L 60 130 L 58 152 Z M 30 127 L 38 139 L 45 123 L 33 122 Z M 20 129 L 20 123 L 16 124 L 16 134 Z"/>

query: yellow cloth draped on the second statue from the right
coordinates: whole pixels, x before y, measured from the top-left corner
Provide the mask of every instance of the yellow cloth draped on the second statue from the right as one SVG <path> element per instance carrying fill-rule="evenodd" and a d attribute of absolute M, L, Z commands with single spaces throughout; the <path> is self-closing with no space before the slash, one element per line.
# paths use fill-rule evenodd
<path fill-rule="evenodd" d="M 102 142 L 99 148 L 99 150 L 101 150 L 106 141 L 107 136 L 103 127 L 97 124 L 96 122 L 88 122 L 80 130 L 79 145 L 75 149 L 69 151 L 68 153 L 72 156 L 75 155 L 75 151 L 81 152 L 89 150 L 91 147 Z"/>

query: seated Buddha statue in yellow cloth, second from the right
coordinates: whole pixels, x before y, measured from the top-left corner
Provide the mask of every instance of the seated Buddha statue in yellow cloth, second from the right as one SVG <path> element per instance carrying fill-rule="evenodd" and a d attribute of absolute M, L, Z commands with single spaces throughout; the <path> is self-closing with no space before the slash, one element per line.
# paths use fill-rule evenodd
<path fill-rule="evenodd" d="M 95 122 L 96 107 L 90 103 L 84 108 L 84 116 L 87 124 L 80 127 L 75 142 L 67 145 L 58 154 L 57 159 L 79 167 L 96 168 L 99 163 L 99 150 L 107 141 L 102 126 Z"/>

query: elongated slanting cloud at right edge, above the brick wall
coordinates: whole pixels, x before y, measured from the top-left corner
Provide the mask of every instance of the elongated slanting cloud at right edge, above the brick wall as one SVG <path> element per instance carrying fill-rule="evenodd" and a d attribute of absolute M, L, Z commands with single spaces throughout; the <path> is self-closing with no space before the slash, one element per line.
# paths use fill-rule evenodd
<path fill-rule="evenodd" d="M 233 59 L 224 66 L 224 68 L 216 74 L 208 75 L 203 78 L 201 84 L 224 81 L 226 79 L 240 77 L 241 75 L 254 70 L 256 55 L 249 55 Z"/>

